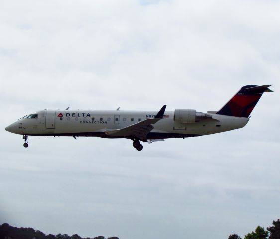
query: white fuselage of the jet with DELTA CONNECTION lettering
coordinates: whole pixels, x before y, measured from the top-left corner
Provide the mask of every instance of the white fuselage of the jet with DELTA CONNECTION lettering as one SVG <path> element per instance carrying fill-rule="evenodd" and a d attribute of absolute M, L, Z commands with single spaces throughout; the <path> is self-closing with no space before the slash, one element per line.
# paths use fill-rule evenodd
<path fill-rule="evenodd" d="M 105 131 L 128 127 L 152 119 L 156 111 L 42 110 L 35 118 L 21 118 L 7 131 L 34 136 L 109 136 Z M 213 120 L 181 123 L 174 120 L 174 111 L 165 111 L 163 119 L 153 125 L 147 139 L 193 137 L 225 132 L 244 127 L 248 118 L 210 114 Z"/>

